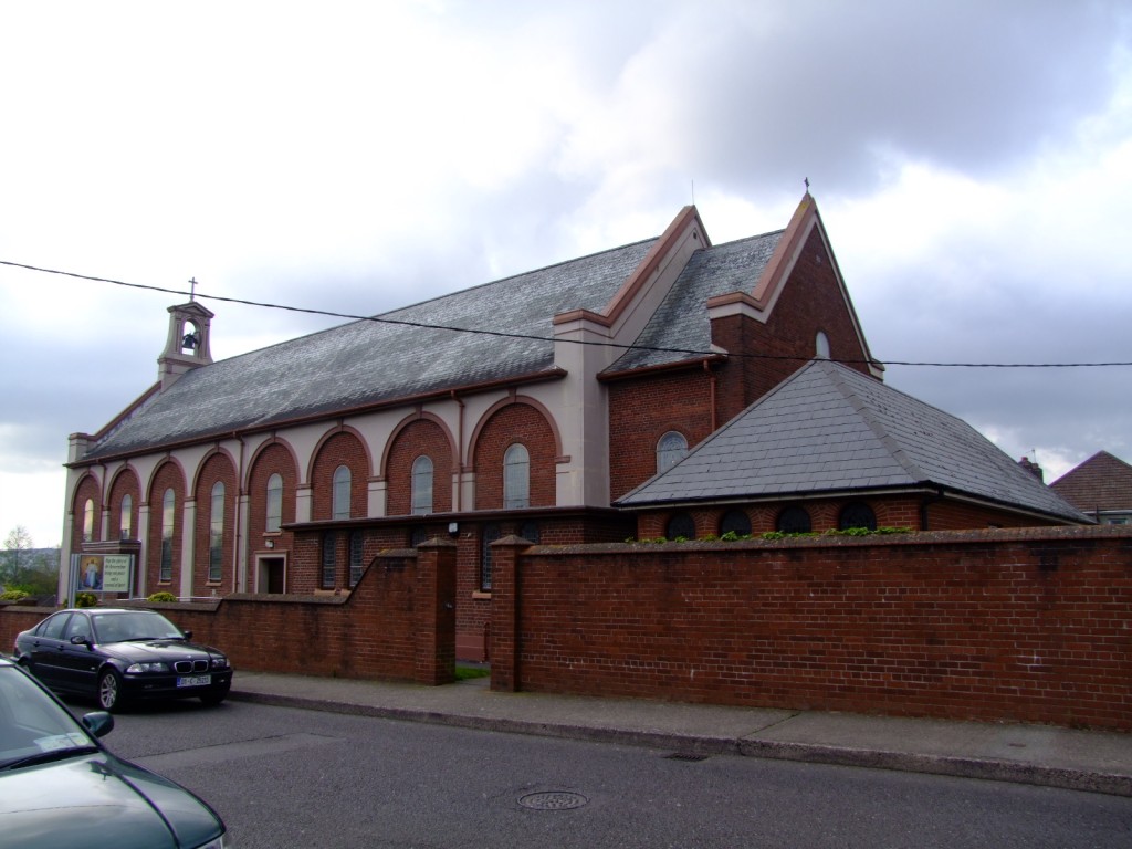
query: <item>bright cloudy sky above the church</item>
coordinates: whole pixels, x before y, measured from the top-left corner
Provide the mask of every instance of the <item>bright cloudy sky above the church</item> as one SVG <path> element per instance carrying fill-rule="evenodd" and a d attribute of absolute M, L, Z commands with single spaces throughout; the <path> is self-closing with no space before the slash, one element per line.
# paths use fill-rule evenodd
<path fill-rule="evenodd" d="M 1126 1 L 44 0 L 0 79 L 0 540 L 59 543 L 190 278 L 224 359 L 344 319 L 209 297 L 376 315 L 806 180 L 890 386 L 1132 462 L 1132 366 L 1030 368 L 1132 363 Z"/>

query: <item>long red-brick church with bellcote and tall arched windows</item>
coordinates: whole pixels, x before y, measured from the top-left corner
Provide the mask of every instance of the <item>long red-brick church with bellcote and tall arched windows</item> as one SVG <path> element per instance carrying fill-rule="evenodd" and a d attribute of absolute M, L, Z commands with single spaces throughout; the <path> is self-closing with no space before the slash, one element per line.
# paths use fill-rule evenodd
<path fill-rule="evenodd" d="M 783 230 L 717 246 L 686 207 L 653 239 L 217 362 L 213 318 L 170 308 L 157 381 L 71 436 L 62 561 L 132 555 L 142 597 L 343 597 L 378 552 L 443 537 L 470 660 L 486 651 L 495 540 L 636 535 L 615 501 L 794 392 L 775 387 L 814 358 L 846 363 L 814 375 L 884 388 L 808 194 Z M 805 418 L 766 424 L 789 440 Z M 920 509 L 949 481 L 901 484 L 904 500 Z M 897 489 L 823 497 L 875 495 L 887 516 Z M 960 492 L 966 517 L 957 506 L 947 526 L 1074 521 L 1010 488 L 942 496 Z M 797 494 L 764 495 L 758 509 L 789 524 Z"/>

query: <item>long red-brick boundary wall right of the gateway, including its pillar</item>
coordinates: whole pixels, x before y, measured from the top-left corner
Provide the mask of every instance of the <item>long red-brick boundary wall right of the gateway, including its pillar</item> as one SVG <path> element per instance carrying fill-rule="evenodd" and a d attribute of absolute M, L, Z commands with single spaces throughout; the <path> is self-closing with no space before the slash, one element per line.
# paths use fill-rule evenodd
<path fill-rule="evenodd" d="M 496 543 L 491 686 L 1132 730 L 1132 530 Z"/>

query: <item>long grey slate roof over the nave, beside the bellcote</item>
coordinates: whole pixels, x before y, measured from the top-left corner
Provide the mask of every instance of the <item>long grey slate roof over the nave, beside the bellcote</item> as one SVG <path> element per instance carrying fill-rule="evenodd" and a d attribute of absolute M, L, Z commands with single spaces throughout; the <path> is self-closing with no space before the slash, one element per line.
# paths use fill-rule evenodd
<path fill-rule="evenodd" d="M 92 446 L 85 458 L 551 369 L 554 316 L 573 309 L 604 311 L 655 241 L 627 245 L 377 317 L 542 338 L 353 321 L 185 374 Z"/>

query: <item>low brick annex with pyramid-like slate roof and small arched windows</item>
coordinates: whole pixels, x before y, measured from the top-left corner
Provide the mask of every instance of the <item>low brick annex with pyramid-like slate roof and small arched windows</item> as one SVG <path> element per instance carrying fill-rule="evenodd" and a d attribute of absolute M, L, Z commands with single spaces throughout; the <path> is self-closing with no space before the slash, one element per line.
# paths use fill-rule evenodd
<path fill-rule="evenodd" d="M 1089 522 L 966 422 L 821 359 L 617 505 L 668 539 Z"/>

